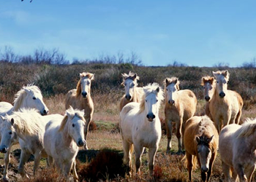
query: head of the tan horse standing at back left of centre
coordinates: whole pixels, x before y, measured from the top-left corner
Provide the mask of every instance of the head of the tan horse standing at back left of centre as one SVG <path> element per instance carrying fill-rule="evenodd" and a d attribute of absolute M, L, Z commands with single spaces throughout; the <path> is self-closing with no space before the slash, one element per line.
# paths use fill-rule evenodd
<path fill-rule="evenodd" d="M 83 98 L 87 98 L 87 96 L 91 92 L 91 80 L 94 79 L 94 74 L 90 73 L 82 73 L 80 74 L 80 93 Z"/>

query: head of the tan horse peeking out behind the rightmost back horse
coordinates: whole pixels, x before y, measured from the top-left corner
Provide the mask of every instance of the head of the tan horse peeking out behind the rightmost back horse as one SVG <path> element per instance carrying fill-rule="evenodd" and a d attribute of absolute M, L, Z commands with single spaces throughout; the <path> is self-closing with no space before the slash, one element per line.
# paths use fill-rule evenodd
<path fill-rule="evenodd" d="M 214 94 L 214 77 L 213 76 L 203 76 L 201 85 L 203 86 L 203 95 L 205 95 L 205 100 L 208 102 L 211 100 Z"/>

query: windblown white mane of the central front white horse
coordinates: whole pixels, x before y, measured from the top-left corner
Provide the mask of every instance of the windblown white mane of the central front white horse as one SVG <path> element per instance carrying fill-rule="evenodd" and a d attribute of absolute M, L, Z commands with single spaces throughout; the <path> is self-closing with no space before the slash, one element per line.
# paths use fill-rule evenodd
<path fill-rule="evenodd" d="M 157 88 L 159 88 L 159 92 L 157 92 Z M 157 83 L 148 84 L 146 87 L 143 87 L 143 90 L 144 90 L 144 93 L 141 96 L 139 113 L 143 112 L 145 109 L 145 98 L 148 94 L 153 92 L 154 94 L 157 95 L 157 98 L 158 98 L 157 106 L 158 107 L 160 106 L 162 100 L 164 100 L 162 88 L 159 87 L 159 84 L 157 84 Z"/>

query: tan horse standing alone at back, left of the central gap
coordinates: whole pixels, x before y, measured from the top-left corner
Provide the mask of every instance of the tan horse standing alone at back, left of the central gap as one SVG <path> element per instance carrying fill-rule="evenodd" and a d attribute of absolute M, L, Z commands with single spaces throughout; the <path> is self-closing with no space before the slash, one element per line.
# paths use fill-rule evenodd
<path fill-rule="evenodd" d="M 91 99 L 91 80 L 93 79 L 94 74 L 83 72 L 80 74 L 77 88 L 69 90 L 66 96 L 66 109 L 72 106 L 72 108 L 83 109 L 84 111 L 84 117 L 86 119 L 86 127 L 84 129 L 85 139 L 89 131 L 92 114 L 94 114 L 94 102 Z M 84 148 L 88 149 L 87 143 Z"/>

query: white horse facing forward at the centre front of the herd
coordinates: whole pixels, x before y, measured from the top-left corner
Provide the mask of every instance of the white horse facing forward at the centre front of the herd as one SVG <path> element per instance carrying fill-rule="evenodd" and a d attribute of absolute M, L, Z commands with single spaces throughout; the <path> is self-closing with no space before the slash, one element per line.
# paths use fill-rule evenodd
<path fill-rule="evenodd" d="M 162 89 L 153 83 L 143 87 L 140 103 L 128 103 L 120 113 L 120 130 L 124 149 L 124 162 L 132 166 L 132 151 L 135 149 L 136 173 L 140 173 L 140 157 L 148 148 L 148 167 L 153 174 L 154 157 L 161 138 L 159 107 L 163 100 Z"/>

